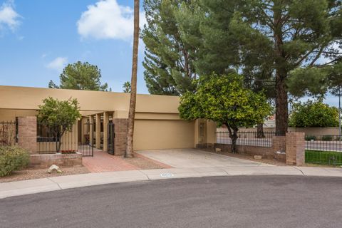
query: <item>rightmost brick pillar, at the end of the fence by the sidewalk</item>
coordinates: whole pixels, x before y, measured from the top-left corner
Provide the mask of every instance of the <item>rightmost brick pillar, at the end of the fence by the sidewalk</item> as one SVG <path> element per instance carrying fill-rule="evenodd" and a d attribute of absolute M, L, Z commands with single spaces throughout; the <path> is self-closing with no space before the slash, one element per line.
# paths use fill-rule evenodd
<path fill-rule="evenodd" d="M 286 133 L 286 164 L 305 163 L 305 133 Z"/>

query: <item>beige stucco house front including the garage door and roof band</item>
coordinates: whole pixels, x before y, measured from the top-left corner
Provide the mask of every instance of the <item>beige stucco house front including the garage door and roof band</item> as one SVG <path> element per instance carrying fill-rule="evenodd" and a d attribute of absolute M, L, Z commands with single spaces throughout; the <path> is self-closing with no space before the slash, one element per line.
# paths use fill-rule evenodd
<path fill-rule="evenodd" d="M 14 121 L 16 116 L 36 115 L 38 105 L 48 97 L 77 98 L 83 116 L 107 112 L 113 118 L 128 118 L 128 93 L 0 86 L 0 122 Z M 137 95 L 136 150 L 195 147 L 199 141 L 216 142 L 214 123 L 180 120 L 178 105 L 177 96 Z M 198 123 L 204 126 L 202 135 Z"/>

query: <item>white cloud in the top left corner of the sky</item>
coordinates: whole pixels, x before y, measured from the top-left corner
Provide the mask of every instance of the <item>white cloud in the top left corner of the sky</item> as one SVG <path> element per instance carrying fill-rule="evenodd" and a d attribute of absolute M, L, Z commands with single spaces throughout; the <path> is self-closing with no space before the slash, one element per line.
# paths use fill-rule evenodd
<path fill-rule="evenodd" d="M 8 27 L 14 31 L 20 25 L 21 16 L 14 11 L 14 1 L 6 1 L 0 6 L 0 30 Z"/>

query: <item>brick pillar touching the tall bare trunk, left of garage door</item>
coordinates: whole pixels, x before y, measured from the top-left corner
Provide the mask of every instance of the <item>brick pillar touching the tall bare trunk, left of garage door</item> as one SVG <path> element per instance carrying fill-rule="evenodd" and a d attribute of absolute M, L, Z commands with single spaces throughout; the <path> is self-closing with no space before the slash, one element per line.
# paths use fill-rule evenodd
<path fill-rule="evenodd" d="M 127 143 L 128 119 L 113 119 L 115 125 L 114 155 L 124 155 Z"/>

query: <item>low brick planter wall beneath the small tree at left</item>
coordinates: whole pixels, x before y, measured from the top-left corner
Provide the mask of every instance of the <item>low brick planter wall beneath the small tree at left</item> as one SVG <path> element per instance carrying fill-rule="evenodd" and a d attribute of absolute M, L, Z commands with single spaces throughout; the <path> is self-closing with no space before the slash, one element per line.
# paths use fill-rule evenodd
<path fill-rule="evenodd" d="M 77 167 L 82 165 L 82 154 L 50 154 L 50 155 L 31 155 L 30 167 L 48 168 L 51 165 L 59 167 Z"/>

